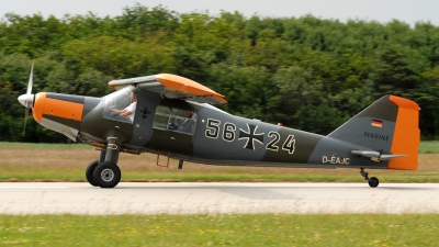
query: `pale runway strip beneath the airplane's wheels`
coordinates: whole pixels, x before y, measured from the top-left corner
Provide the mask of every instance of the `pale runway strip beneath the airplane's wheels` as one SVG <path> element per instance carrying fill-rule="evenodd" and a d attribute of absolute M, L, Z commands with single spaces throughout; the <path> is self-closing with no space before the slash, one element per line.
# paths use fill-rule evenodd
<path fill-rule="evenodd" d="M 1 182 L 0 214 L 439 213 L 438 183 Z"/>

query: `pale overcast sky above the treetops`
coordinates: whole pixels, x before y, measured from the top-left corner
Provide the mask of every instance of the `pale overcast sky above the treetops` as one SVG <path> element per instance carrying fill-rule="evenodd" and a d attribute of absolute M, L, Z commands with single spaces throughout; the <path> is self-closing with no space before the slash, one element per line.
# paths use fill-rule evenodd
<path fill-rule="evenodd" d="M 312 14 L 320 19 L 390 22 L 394 19 L 412 26 L 416 22 L 431 22 L 439 25 L 439 0 L 0 0 L 0 19 L 13 12 L 20 15 L 41 13 L 47 18 L 64 14 L 87 14 L 91 11 L 99 16 L 115 16 L 123 8 L 136 2 L 153 8 L 159 4 L 179 13 L 205 12 L 211 15 L 222 10 L 238 11 L 246 18 L 254 14 L 270 18 L 290 18 Z"/>

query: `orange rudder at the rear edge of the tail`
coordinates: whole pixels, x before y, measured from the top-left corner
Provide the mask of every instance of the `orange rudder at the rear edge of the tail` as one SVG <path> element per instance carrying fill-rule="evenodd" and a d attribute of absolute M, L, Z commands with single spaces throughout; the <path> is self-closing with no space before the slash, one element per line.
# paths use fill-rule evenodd
<path fill-rule="evenodd" d="M 398 105 L 395 132 L 391 154 L 407 155 L 389 161 L 389 169 L 416 170 L 418 168 L 418 147 L 420 131 L 418 127 L 419 105 L 404 98 L 391 96 L 390 101 Z"/>

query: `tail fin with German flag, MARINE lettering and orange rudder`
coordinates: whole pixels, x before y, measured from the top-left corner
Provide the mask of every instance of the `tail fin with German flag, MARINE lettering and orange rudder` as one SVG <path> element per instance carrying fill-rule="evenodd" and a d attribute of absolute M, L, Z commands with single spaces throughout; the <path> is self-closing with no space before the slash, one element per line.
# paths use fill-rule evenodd
<path fill-rule="evenodd" d="M 416 170 L 418 166 L 419 106 L 385 96 L 335 130 L 328 137 L 341 139 L 391 157 L 389 169 Z"/>

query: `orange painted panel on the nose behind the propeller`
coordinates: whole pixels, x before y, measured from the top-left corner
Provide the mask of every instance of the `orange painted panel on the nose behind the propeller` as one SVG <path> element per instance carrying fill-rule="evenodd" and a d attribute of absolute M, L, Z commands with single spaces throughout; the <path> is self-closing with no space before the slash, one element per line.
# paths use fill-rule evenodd
<path fill-rule="evenodd" d="M 83 104 L 46 98 L 43 114 L 81 121 Z"/>

